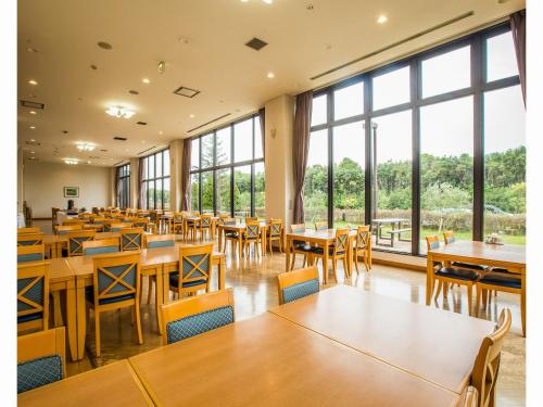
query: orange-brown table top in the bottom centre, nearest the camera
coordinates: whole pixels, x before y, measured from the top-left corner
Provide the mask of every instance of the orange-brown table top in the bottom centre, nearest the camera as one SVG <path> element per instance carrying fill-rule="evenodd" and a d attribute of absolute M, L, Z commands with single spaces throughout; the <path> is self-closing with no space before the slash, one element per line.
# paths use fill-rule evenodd
<path fill-rule="evenodd" d="M 129 363 L 162 406 L 454 406 L 459 398 L 269 313 Z"/>

